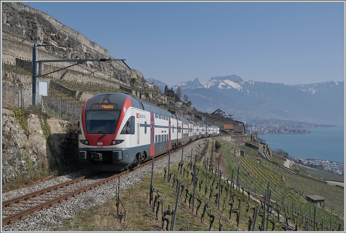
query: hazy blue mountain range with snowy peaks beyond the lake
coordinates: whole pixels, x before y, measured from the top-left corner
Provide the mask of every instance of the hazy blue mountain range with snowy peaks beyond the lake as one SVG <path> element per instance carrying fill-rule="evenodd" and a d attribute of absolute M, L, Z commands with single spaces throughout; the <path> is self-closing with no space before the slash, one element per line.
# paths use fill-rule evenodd
<path fill-rule="evenodd" d="M 236 75 L 212 77 L 209 81 L 181 82 L 182 94 L 201 111 L 222 111 L 260 118 L 344 118 L 344 82 L 285 85 L 245 80 Z"/>

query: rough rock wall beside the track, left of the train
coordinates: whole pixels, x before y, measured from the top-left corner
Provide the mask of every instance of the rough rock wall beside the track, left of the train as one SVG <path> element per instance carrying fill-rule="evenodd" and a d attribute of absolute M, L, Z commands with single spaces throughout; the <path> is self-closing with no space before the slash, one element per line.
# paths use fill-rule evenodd
<path fill-rule="evenodd" d="M 2 109 L 2 181 L 29 177 L 33 172 L 54 165 L 71 166 L 78 161 L 78 135 L 69 133 L 71 122 L 47 119 L 42 126 L 38 115 L 25 116 L 27 134 L 12 110 Z M 49 132 L 47 132 L 49 129 Z M 49 142 L 45 136 L 49 134 Z"/>

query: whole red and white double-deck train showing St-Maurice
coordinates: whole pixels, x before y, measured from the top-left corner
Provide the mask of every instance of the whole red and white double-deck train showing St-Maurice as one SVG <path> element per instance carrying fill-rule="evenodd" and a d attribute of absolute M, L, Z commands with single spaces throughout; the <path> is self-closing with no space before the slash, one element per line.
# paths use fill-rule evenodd
<path fill-rule="evenodd" d="M 79 163 L 88 170 L 121 171 L 198 138 L 217 126 L 190 121 L 123 93 L 88 99 L 79 125 Z"/>

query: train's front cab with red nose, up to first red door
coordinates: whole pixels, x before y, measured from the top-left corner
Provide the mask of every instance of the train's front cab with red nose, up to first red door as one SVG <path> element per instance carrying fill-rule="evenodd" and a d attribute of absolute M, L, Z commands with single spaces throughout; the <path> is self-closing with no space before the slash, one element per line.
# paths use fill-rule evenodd
<path fill-rule="evenodd" d="M 112 111 L 95 109 L 100 102 L 106 101 L 104 95 L 108 97 L 108 105 L 113 106 Z M 150 117 L 136 102 L 126 94 L 104 93 L 85 103 L 80 118 L 80 132 L 83 133 L 79 135 L 79 162 L 85 169 L 121 171 L 147 157 L 150 138 L 144 135 L 149 132 L 150 124 L 146 120 Z M 115 122 L 114 126 L 111 122 L 115 129 L 110 128 L 109 121 Z"/>

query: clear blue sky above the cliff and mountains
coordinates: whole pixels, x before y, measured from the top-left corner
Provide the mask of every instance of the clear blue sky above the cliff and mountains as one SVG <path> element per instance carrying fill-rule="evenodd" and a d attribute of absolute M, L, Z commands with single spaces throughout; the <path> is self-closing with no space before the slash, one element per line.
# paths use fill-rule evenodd
<path fill-rule="evenodd" d="M 344 2 L 22 2 L 172 86 L 344 81 Z"/>

